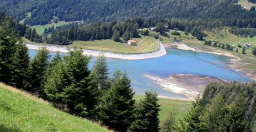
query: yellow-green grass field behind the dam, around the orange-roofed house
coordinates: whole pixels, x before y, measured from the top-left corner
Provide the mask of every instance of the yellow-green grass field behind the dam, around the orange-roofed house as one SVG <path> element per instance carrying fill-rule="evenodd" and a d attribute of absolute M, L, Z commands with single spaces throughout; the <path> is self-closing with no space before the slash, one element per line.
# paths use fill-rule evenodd
<path fill-rule="evenodd" d="M 122 39 L 122 38 L 120 38 Z M 115 42 L 113 39 L 102 39 L 93 41 L 74 41 L 68 47 L 82 47 L 85 49 L 103 50 L 121 53 L 147 53 L 153 52 L 158 48 L 158 40 L 149 36 L 133 38 L 137 46 L 125 45 L 126 42 Z"/>

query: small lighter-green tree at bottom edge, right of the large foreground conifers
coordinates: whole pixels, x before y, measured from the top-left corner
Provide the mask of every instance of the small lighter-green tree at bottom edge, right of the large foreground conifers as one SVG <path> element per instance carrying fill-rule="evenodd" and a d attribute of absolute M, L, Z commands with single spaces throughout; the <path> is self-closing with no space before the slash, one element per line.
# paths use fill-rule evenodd
<path fill-rule="evenodd" d="M 165 117 L 165 119 L 163 121 L 161 121 L 160 124 L 160 132 L 170 132 L 170 131 L 176 131 L 176 118 L 175 118 L 175 113 L 173 113 L 172 111 L 170 111 L 170 114 Z"/>

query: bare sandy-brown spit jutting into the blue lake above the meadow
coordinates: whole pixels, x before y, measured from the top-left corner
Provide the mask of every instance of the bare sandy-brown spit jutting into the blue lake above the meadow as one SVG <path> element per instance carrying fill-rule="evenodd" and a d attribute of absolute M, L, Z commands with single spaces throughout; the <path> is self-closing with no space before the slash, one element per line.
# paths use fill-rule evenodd
<path fill-rule="evenodd" d="M 226 83 L 226 80 L 207 77 L 204 75 L 191 75 L 191 74 L 175 74 L 169 78 L 159 78 L 151 75 L 144 75 L 147 78 L 154 80 L 163 89 L 176 94 L 182 94 L 188 97 L 187 100 L 194 100 L 199 94 L 203 93 L 205 85 L 212 82 Z M 179 98 L 180 99 L 180 98 Z"/>

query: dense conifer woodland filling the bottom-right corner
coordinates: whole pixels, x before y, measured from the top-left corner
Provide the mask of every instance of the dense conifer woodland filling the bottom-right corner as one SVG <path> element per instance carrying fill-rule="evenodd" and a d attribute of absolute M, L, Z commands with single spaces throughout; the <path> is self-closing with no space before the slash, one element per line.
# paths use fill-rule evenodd
<path fill-rule="evenodd" d="M 256 83 L 211 83 L 206 85 L 205 92 L 202 98 L 203 107 L 208 105 L 206 111 L 209 114 L 206 116 L 210 119 L 210 113 L 213 114 L 215 110 L 219 110 L 216 114 L 216 117 L 219 117 L 220 126 L 216 126 L 218 123 L 215 123 L 216 127 L 225 126 L 225 130 L 239 130 L 239 131 L 251 131 L 254 127 L 254 117 L 256 114 L 256 97 L 255 97 L 255 88 Z M 219 95 L 216 97 L 216 95 Z M 211 99 L 215 98 L 213 102 L 216 104 L 212 105 Z M 218 99 L 217 99 L 218 98 Z M 212 106 L 210 106 L 211 104 Z M 223 105 L 219 105 L 223 104 Z M 224 116 L 223 114 L 224 113 Z M 217 115 L 218 114 L 218 115 Z M 211 116 L 213 117 L 213 116 Z M 214 125 L 211 125 L 214 126 Z M 215 129 L 215 128 L 214 128 Z M 218 128 L 216 128 L 218 129 Z"/>

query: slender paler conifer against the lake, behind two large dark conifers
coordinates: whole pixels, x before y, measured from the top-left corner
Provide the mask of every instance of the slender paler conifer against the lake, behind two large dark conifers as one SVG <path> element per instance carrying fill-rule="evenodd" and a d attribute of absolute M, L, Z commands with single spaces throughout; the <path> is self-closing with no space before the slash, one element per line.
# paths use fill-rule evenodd
<path fill-rule="evenodd" d="M 101 53 L 93 65 L 91 75 L 98 88 L 101 90 L 107 90 L 110 88 L 109 68 L 107 68 L 106 58 L 103 53 Z"/>

